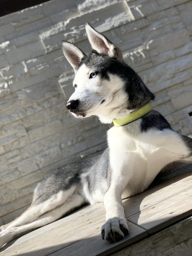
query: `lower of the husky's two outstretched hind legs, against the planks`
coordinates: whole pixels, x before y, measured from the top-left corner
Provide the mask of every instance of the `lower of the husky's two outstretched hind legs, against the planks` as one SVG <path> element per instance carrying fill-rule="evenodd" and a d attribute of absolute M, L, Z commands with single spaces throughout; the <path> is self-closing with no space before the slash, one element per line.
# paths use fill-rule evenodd
<path fill-rule="evenodd" d="M 16 237 L 19 237 L 21 234 L 42 226 L 45 226 L 57 219 L 61 218 L 67 212 L 71 211 L 76 207 L 80 207 L 85 202 L 84 198 L 78 194 L 74 193 L 69 197 L 62 205 L 56 209 L 50 210 L 35 220 L 31 221 L 22 226 L 16 226 L 16 222 L 12 222 L 8 228 L 4 230 L 4 233 L 0 236 L 0 248 L 5 244 L 10 242 Z M 38 207 L 38 206 L 36 206 Z M 34 208 L 35 209 L 35 208 Z M 21 223 L 21 222 L 19 222 Z"/>

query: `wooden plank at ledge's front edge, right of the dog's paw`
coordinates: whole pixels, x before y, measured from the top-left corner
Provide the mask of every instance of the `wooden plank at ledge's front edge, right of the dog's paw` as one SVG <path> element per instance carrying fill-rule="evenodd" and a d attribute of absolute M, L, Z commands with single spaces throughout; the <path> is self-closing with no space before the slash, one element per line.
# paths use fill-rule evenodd
<path fill-rule="evenodd" d="M 157 232 L 192 214 L 192 189 L 188 188 L 153 207 L 129 216 L 128 220 L 145 228 L 148 233 Z"/>

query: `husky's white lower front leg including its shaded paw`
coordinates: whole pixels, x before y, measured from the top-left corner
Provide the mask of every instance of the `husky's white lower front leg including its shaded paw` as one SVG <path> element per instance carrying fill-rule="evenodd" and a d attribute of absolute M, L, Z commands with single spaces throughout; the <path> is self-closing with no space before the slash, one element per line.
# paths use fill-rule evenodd
<path fill-rule="evenodd" d="M 103 240 L 117 242 L 129 232 L 121 199 L 122 189 L 118 185 L 111 186 L 104 195 L 106 222 L 101 228 Z"/>

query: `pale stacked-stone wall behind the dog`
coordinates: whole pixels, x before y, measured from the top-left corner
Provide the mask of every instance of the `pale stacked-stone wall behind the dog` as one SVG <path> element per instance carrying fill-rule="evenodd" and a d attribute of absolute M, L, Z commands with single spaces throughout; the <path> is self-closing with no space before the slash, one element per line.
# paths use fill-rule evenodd
<path fill-rule="evenodd" d="M 192 104 L 191 13 L 189 0 L 52 0 L 0 18 L 0 224 L 26 209 L 48 172 L 106 147 L 107 125 L 65 107 L 73 71 L 61 40 L 90 51 L 87 21 L 121 48 L 156 95 L 154 109 L 192 133 L 183 114 Z"/>

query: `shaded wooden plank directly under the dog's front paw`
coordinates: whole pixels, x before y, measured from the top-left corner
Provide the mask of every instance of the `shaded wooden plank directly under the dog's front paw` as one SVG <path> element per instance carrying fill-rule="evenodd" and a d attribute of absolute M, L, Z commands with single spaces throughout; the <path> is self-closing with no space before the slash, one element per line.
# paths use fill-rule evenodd
<path fill-rule="evenodd" d="M 148 236 L 145 229 L 138 227 L 137 225 L 129 222 L 130 234 L 124 237 L 123 240 L 116 243 L 108 243 L 101 239 L 100 231 L 95 232 L 91 236 L 88 236 L 80 241 L 77 241 L 70 246 L 67 246 L 57 252 L 50 254 L 50 256 L 105 256 L 110 255 L 122 248 L 129 246 L 132 243 L 140 241 Z"/>

